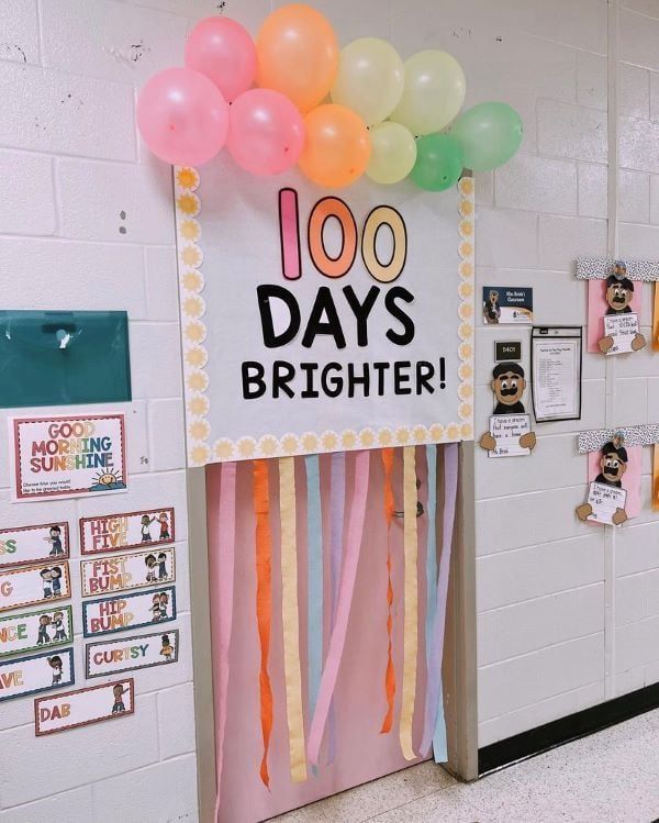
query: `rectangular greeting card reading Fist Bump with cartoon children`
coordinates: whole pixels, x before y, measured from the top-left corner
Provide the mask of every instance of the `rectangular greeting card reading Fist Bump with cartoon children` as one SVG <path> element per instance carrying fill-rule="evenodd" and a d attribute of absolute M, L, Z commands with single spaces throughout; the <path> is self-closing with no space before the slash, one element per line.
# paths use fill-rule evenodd
<path fill-rule="evenodd" d="M 97 557 L 80 563 L 82 597 L 109 594 L 112 591 L 163 586 L 176 579 L 172 546 L 133 552 L 127 555 Z"/>

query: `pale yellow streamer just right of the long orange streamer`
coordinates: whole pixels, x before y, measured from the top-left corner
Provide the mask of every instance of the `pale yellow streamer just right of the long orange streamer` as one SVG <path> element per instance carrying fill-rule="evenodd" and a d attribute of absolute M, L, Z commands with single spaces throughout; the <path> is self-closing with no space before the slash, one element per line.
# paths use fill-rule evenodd
<path fill-rule="evenodd" d="M 300 668 L 300 616 L 298 611 L 298 534 L 295 524 L 295 458 L 279 458 L 279 516 L 281 523 L 281 624 L 283 626 L 283 679 L 289 726 L 291 778 L 306 780 L 302 671 Z"/>

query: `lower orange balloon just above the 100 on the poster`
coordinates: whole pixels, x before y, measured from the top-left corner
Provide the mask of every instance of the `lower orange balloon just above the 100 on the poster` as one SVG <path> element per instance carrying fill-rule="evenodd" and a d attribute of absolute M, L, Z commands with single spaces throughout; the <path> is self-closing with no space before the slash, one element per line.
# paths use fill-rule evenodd
<path fill-rule="evenodd" d="M 371 153 L 368 129 L 351 109 L 319 105 L 304 118 L 304 127 L 306 142 L 299 164 L 312 182 L 340 188 L 366 171 Z"/>

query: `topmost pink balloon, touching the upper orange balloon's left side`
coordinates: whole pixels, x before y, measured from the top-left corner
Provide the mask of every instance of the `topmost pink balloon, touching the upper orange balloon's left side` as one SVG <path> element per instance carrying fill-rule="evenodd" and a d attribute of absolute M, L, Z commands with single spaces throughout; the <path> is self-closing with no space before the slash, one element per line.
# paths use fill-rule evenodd
<path fill-rule="evenodd" d="M 254 85 L 256 46 L 235 20 L 206 18 L 190 32 L 186 66 L 205 75 L 232 102 Z"/>

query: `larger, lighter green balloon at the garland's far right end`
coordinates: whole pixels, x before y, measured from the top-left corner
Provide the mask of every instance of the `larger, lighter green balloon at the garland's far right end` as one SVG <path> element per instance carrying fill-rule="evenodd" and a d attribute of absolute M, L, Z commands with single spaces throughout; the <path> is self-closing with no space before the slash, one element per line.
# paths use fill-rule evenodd
<path fill-rule="evenodd" d="M 465 167 L 490 171 L 503 166 L 522 145 L 522 118 L 507 103 L 480 103 L 462 112 L 450 134 L 465 152 Z"/>

